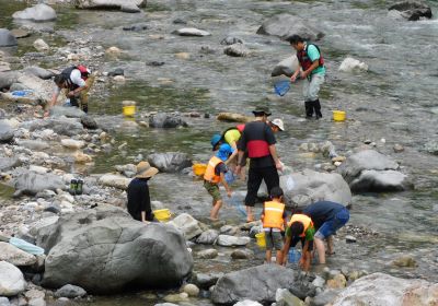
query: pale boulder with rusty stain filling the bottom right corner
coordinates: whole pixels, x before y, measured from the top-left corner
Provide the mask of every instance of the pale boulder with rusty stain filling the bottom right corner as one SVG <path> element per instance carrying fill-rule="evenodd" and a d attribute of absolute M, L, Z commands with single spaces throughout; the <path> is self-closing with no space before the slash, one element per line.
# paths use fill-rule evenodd
<path fill-rule="evenodd" d="M 355 281 L 339 293 L 333 306 L 344 305 L 415 305 L 438 303 L 438 284 L 424 280 L 405 280 L 373 273 Z"/>

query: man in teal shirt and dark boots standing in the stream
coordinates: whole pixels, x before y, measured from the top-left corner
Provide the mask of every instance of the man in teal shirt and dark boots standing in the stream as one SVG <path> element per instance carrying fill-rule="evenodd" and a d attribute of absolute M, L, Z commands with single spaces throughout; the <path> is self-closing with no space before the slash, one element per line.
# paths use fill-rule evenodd
<path fill-rule="evenodd" d="M 302 94 L 304 96 L 306 118 L 312 118 L 314 111 L 316 119 L 320 119 L 322 113 L 319 93 L 325 78 L 324 58 L 316 45 L 308 44 L 299 35 L 292 35 L 286 40 L 297 50 L 299 62 L 290 82 L 293 83 L 297 78 L 304 80 Z"/>

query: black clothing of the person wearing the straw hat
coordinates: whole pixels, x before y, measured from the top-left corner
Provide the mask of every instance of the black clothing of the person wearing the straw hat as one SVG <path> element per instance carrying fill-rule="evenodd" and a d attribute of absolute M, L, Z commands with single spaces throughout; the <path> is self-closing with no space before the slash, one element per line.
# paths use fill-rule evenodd
<path fill-rule="evenodd" d="M 146 221 L 152 221 L 153 214 L 149 197 L 149 178 L 134 178 L 128 186 L 128 212 L 138 221 L 141 221 L 141 212 L 146 212 Z"/>

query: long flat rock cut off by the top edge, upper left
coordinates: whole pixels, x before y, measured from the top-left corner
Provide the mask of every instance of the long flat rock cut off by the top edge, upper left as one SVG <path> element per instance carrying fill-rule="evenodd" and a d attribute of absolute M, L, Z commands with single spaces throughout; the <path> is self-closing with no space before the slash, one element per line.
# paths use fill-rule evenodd
<path fill-rule="evenodd" d="M 78 9 L 120 10 L 126 13 L 140 12 L 146 0 L 76 0 Z"/>

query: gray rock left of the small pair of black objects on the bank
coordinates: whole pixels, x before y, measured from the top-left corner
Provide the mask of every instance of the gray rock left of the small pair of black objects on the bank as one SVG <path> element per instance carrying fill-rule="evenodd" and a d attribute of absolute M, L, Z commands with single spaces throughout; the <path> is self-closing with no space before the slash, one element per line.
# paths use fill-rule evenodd
<path fill-rule="evenodd" d="M 27 169 L 19 168 L 13 172 L 13 181 L 16 190 L 24 195 L 34 196 L 43 190 L 66 189 L 61 177 L 54 174 L 37 174 Z"/>

